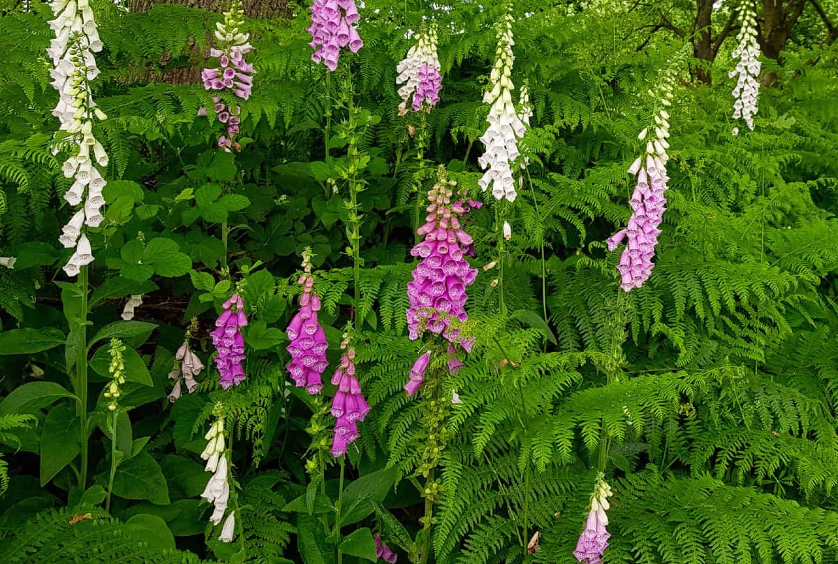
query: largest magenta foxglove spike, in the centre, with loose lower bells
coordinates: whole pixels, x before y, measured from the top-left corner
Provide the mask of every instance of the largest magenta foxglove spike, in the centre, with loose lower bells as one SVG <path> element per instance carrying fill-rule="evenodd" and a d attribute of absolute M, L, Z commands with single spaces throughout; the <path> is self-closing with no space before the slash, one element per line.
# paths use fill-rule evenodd
<path fill-rule="evenodd" d="M 452 187 L 456 184 L 441 178 L 428 191 L 431 203 L 427 206 L 426 222 L 416 230 L 419 235 L 425 235 L 425 240 L 411 250 L 411 255 L 422 257 L 422 261 L 413 271 L 413 280 L 407 283 L 410 308 L 406 313 L 411 340 L 419 339 L 427 329 L 441 334 L 452 344 L 448 349 L 451 370 L 461 365 L 453 345 L 459 344 L 468 352 L 474 342 L 460 335 L 457 323 L 452 323 L 452 320 L 464 322 L 468 319 L 465 312 L 468 299 L 466 287 L 477 277 L 477 269 L 465 260 L 468 252 L 473 251 L 473 241 L 460 224 L 468 206 L 463 205 L 462 200 L 451 201 L 454 195 Z M 408 396 L 422 384 L 429 360 L 430 353 L 422 354 L 416 360 L 410 380 L 405 385 Z"/>

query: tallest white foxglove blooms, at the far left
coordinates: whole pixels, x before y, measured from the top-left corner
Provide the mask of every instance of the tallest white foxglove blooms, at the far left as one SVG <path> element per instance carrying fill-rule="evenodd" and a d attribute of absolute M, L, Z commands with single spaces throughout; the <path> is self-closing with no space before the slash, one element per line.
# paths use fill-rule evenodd
<path fill-rule="evenodd" d="M 49 75 L 53 79 L 50 84 L 59 92 L 52 113 L 59 119 L 59 129 L 69 134 L 74 149 L 61 166 L 65 178 L 74 179 L 64 198 L 68 204 L 80 206 L 59 236 L 62 246 L 75 248 L 64 266 L 67 275 L 73 277 L 93 261 L 90 241 L 83 232 L 85 226 L 98 227 L 104 219 L 101 207 L 105 204 L 102 189 L 106 182 L 96 165 L 107 166 L 108 157 L 94 136 L 93 122 L 106 115 L 96 107 L 90 84 L 99 75 L 94 53 L 101 51 L 102 43 L 89 0 L 54 0 L 50 8 L 55 18 L 49 21 L 49 27 L 55 39 L 47 49 L 54 67 Z"/>

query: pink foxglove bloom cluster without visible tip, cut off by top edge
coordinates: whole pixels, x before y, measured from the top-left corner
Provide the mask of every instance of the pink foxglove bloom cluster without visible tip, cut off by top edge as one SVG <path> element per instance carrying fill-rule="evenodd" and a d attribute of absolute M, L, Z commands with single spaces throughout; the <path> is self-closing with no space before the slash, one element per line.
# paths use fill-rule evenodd
<path fill-rule="evenodd" d="M 307 31 L 312 36 L 312 60 L 323 63 L 328 70 L 338 68 L 340 49 L 349 47 L 353 53 L 364 46 L 355 24 L 360 15 L 354 0 L 314 0 L 311 6 L 312 24 Z"/>

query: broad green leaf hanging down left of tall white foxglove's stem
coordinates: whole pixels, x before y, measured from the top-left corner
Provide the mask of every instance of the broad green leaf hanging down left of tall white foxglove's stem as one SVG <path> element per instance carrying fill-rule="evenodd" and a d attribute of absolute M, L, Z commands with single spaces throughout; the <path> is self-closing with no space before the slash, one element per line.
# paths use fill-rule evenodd
<path fill-rule="evenodd" d="M 79 455 L 81 451 L 80 422 L 75 406 L 54 406 L 41 427 L 41 486 Z"/>

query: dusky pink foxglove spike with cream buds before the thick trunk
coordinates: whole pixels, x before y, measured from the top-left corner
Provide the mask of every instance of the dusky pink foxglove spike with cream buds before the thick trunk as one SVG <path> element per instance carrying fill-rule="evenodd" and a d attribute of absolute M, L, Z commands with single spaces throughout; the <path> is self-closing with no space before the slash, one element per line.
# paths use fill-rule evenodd
<path fill-rule="evenodd" d="M 201 71 L 201 80 L 204 80 L 204 89 L 213 91 L 231 91 L 242 100 L 251 97 L 253 88 L 253 65 L 245 60 L 245 55 L 253 50 L 248 43 L 250 34 L 241 32 L 244 27 L 245 13 L 241 8 L 241 0 L 232 0 L 230 9 L 224 13 L 224 22 L 215 24 L 215 39 L 218 41 L 217 49 L 209 49 L 210 57 L 217 57 L 219 65 L 206 68 Z M 213 96 L 215 106 L 213 110 L 218 116 L 218 121 L 227 127 L 226 135 L 218 138 L 218 146 L 230 153 L 232 148 L 241 150 L 239 143 L 235 142 L 235 136 L 239 132 L 241 118 L 241 106 L 227 105 L 220 96 Z M 206 110 L 199 111 L 205 115 Z"/>

